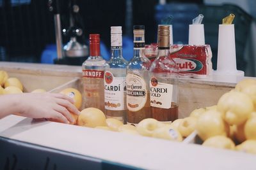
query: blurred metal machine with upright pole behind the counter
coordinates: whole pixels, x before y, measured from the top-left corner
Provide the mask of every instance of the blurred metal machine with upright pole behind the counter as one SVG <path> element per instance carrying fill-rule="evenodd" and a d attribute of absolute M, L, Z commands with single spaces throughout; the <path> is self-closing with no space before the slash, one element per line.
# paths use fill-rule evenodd
<path fill-rule="evenodd" d="M 56 34 L 57 59 L 54 64 L 78 65 L 88 58 L 88 46 L 79 43 L 78 38 L 84 40 L 83 21 L 79 15 L 76 0 L 48 0 L 49 11 L 54 13 L 54 27 Z M 61 31 L 61 14 L 68 13 L 68 28 Z M 62 33 L 70 40 L 62 44 Z M 85 41 L 85 40 L 84 40 Z"/>

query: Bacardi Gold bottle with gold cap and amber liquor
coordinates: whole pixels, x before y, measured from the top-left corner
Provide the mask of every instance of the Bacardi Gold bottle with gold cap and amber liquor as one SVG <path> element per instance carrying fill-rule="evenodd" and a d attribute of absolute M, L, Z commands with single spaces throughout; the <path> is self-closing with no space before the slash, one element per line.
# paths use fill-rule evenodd
<path fill-rule="evenodd" d="M 178 67 L 170 57 L 169 25 L 159 25 L 157 32 L 157 58 L 150 67 L 151 116 L 170 122 L 178 118 Z"/>

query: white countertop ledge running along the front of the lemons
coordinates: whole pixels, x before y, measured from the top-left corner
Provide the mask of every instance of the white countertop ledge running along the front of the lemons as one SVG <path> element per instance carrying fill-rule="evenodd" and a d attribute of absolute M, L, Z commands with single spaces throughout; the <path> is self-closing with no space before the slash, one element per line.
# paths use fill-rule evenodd
<path fill-rule="evenodd" d="M 0 136 L 143 169 L 255 169 L 256 155 L 11 115 Z"/>

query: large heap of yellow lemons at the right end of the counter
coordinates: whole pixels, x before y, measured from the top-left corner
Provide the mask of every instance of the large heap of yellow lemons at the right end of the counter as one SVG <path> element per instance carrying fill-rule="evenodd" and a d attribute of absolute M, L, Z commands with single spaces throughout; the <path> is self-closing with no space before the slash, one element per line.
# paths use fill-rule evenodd
<path fill-rule="evenodd" d="M 192 111 L 202 145 L 256 153 L 256 80 L 245 79 L 218 104 Z"/>

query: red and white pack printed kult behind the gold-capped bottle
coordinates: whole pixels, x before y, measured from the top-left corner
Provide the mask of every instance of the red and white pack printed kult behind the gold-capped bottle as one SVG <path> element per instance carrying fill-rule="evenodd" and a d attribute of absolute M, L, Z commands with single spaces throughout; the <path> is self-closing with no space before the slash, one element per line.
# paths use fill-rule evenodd
<path fill-rule="evenodd" d="M 182 78 L 207 78 L 212 73 L 210 45 L 172 45 L 170 57 L 179 66 Z"/>

